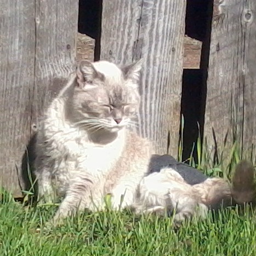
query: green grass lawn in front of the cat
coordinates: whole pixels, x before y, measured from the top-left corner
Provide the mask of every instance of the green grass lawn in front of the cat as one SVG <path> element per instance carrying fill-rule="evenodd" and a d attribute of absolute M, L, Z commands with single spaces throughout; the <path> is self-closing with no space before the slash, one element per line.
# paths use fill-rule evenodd
<path fill-rule="evenodd" d="M 129 212 L 82 214 L 50 232 L 36 231 L 56 207 L 25 207 L 5 198 L 0 205 L 0 255 L 256 255 L 256 224 L 247 207 L 186 223 Z M 215 217 L 214 217 L 215 216 Z M 215 220 L 214 220 L 215 219 Z"/>

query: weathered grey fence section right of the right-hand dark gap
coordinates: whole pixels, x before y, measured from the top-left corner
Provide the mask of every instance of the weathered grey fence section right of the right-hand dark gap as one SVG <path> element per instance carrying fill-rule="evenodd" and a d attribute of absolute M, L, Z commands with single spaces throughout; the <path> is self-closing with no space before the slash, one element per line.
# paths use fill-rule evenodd
<path fill-rule="evenodd" d="M 227 152 L 256 143 L 255 14 L 254 0 L 214 1 L 204 136 L 215 156 L 225 141 Z"/>

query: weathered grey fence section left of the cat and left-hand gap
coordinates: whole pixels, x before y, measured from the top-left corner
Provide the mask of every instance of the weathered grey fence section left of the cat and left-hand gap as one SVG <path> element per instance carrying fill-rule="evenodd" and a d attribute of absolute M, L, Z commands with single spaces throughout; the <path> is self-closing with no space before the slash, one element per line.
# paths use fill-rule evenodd
<path fill-rule="evenodd" d="M 22 157 L 54 79 L 75 64 L 77 19 L 78 0 L 0 3 L 0 179 L 14 196 L 26 186 Z"/>

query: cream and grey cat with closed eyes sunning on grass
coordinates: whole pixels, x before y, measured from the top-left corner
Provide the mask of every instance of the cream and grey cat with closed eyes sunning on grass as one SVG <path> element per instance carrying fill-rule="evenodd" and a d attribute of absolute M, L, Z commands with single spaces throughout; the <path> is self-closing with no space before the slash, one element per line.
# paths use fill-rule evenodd
<path fill-rule="evenodd" d="M 178 204 L 177 221 L 203 217 L 214 200 L 232 197 L 223 179 L 192 186 L 170 167 L 149 173 L 154 145 L 129 129 L 136 126 L 142 64 L 120 68 L 82 60 L 45 111 L 35 175 L 39 201 L 62 198 L 52 225 L 77 211 L 103 210 L 109 194 L 113 209 L 131 207 L 137 213 Z"/>

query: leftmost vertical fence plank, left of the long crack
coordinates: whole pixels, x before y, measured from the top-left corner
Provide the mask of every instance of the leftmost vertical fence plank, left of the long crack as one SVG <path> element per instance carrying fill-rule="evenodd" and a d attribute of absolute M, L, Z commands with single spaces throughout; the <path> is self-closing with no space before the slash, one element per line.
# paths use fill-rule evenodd
<path fill-rule="evenodd" d="M 0 186 L 20 195 L 35 75 L 35 1 L 0 3 Z"/>

